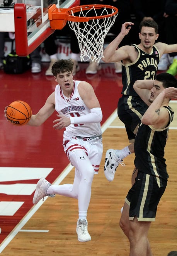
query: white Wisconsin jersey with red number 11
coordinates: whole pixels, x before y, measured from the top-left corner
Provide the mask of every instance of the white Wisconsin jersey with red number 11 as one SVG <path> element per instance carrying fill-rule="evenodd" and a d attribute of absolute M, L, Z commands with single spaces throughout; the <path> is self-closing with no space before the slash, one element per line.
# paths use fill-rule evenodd
<path fill-rule="evenodd" d="M 81 81 L 73 80 L 73 92 L 71 96 L 67 98 L 63 94 L 63 90 L 60 85 L 56 85 L 55 88 L 55 110 L 60 115 L 68 117 L 83 116 L 90 113 L 90 109 L 85 105 L 82 98 L 78 93 L 78 85 Z M 71 124 L 66 127 L 64 135 L 67 137 L 81 136 L 92 137 L 101 135 L 100 123 L 87 123 L 87 124 Z"/>

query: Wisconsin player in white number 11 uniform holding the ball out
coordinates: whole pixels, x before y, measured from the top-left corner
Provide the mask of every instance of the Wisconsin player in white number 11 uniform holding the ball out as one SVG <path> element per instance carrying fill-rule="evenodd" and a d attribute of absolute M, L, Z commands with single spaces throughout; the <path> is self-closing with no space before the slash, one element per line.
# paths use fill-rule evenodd
<path fill-rule="evenodd" d="M 78 199 L 76 232 L 80 242 L 87 242 L 91 240 L 87 230 L 87 210 L 92 180 L 94 174 L 98 173 L 103 151 L 100 126 L 102 111 L 92 86 L 85 81 L 73 80 L 72 70 L 71 59 L 61 59 L 53 64 L 52 73 L 58 85 L 39 112 L 32 115 L 28 125 L 42 125 L 55 110 L 58 112 L 53 128 L 66 128 L 63 147 L 71 165 L 75 167 L 74 182 L 51 185 L 41 178 L 37 182 L 33 204 L 45 196 L 54 197 L 56 194 Z"/>

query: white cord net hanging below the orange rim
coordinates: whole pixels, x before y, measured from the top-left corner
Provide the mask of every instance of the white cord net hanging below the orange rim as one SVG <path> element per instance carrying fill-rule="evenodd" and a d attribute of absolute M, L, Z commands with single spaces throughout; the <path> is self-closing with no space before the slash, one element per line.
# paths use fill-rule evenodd
<path fill-rule="evenodd" d="M 101 14 L 97 14 L 97 10 L 94 6 L 83 13 L 82 7 L 80 8 L 80 13 L 78 16 L 81 17 L 89 17 L 90 10 L 94 10 L 95 16 L 104 16 L 110 14 L 110 9 L 103 8 Z M 109 12 L 108 12 L 109 10 Z M 111 9 L 112 13 L 115 12 L 114 9 Z M 72 16 L 75 16 L 72 12 Z M 118 13 L 117 13 L 118 14 Z M 98 18 L 98 19 L 90 19 L 86 22 L 75 22 L 75 21 L 68 21 L 69 26 L 73 31 L 78 39 L 78 44 L 80 48 L 80 59 L 81 61 L 90 61 L 93 62 L 100 62 L 100 59 L 104 57 L 103 55 L 103 45 L 104 39 L 114 24 L 117 15 Z"/>

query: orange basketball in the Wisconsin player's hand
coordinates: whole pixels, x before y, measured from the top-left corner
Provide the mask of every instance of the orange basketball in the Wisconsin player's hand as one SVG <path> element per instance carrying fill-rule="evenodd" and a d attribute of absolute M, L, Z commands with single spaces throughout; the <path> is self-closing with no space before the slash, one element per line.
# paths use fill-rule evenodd
<path fill-rule="evenodd" d="M 32 115 L 31 107 L 22 100 L 16 100 L 7 107 L 7 119 L 12 125 L 25 125 Z"/>

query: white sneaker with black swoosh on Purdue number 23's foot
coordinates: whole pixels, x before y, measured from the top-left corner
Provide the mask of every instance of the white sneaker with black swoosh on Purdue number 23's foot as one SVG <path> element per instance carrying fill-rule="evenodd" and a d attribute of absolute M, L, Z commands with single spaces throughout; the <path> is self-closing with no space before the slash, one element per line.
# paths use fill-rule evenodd
<path fill-rule="evenodd" d="M 118 150 L 119 151 L 119 150 Z M 119 163 L 122 166 L 125 166 L 123 160 L 121 160 L 116 155 L 117 150 L 115 149 L 108 149 L 106 151 L 106 158 L 105 158 L 105 164 L 104 164 L 104 175 L 106 176 L 108 181 L 114 180 L 114 175 L 117 170 L 117 167 L 119 166 Z"/>

